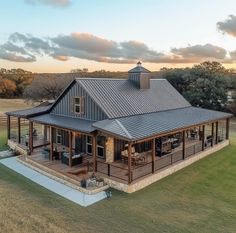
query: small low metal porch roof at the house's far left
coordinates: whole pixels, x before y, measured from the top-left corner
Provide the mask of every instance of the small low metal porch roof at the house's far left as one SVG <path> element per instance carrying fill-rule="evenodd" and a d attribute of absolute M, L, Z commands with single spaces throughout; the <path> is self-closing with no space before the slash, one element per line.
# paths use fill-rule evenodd
<path fill-rule="evenodd" d="M 48 106 L 40 106 L 40 107 L 28 108 L 28 109 L 17 110 L 17 111 L 12 111 L 12 112 L 6 112 L 6 115 L 22 117 L 22 118 L 30 118 L 33 116 L 47 113 L 50 110 L 51 106 L 52 105 L 50 104 Z"/>

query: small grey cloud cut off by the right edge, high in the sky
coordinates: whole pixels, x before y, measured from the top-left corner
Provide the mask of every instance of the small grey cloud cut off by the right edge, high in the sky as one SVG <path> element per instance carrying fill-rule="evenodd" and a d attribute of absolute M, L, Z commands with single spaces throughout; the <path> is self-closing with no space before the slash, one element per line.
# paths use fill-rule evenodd
<path fill-rule="evenodd" d="M 222 33 L 229 34 L 231 36 L 236 37 L 236 16 L 235 15 L 229 15 L 228 19 L 222 22 L 218 22 L 217 28 Z"/>

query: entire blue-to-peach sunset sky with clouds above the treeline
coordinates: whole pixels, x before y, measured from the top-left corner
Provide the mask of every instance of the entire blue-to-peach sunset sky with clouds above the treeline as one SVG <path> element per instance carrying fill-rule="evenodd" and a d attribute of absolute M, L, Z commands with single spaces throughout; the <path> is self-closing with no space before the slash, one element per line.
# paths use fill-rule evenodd
<path fill-rule="evenodd" d="M 0 68 L 236 69 L 235 0 L 1 0 L 0 28 Z"/>

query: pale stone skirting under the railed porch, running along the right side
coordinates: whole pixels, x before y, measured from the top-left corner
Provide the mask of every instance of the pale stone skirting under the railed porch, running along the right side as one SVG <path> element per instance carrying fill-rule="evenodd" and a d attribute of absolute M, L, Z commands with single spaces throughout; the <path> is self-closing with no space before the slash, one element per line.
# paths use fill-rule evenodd
<path fill-rule="evenodd" d="M 176 164 L 173 164 L 167 168 L 163 168 L 162 170 L 157 171 L 154 174 L 148 175 L 146 177 L 141 178 L 139 181 L 136 181 L 134 183 L 123 184 L 114 180 L 111 180 L 109 178 L 104 178 L 105 182 L 112 188 L 118 189 L 120 191 L 124 191 L 127 193 L 133 193 L 140 189 L 143 189 L 147 187 L 148 185 L 168 176 L 171 175 L 177 171 L 179 171 L 182 168 L 185 168 L 189 166 L 190 164 L 224 148 L 225 146 L 229 145 L 229 140 L 226 140 L 224 142 L 221 142 L 217 145 L 214 145 L 214 147 L 208 148 L 205 151 L 201 151 L 193 156 L 188 157 L 185 160 L 182 160 Z"/>

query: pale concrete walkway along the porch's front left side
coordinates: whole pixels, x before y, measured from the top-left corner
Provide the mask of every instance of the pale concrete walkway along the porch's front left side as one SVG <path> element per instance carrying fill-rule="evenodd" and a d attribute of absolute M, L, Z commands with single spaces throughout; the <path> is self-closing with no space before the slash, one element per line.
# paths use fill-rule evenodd
<path fill-rule="evenodd" d="M 33 182 L 43 186 L 44 188 L 70 200 L 81 206 L 89 206 L 106 198 L 104 191 L 96 194 L 85 194 L 76 189 L 68 187 L 58 181 L 55 181 L 17 161 L 16 157 L 1 159 L 0 163 L 9 169 L 27 177 Z"/>

